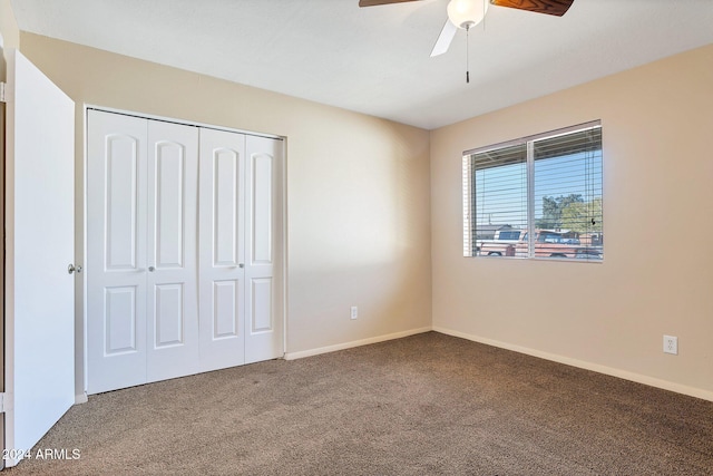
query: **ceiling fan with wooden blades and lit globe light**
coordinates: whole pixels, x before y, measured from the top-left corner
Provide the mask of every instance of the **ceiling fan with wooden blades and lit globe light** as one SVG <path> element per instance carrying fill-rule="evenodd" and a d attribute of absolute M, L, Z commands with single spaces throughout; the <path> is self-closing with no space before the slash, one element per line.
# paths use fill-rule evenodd
<path fill-rule="evenodd" d="M 359 6 L 375 7 L 407 1 L 419 0 L 359 0 Z M 561 17 L 567 12 L 572 3 L 574 3 L 574 0 L 450 0 L 448 3 L 448 20 L 446 20 L 446 25 L 443 25 L 443 29 L 438 36 L 438 40 L 436 40 L 431 57 L 448 51 L 448 47 L 450 47 L 459 28 L 469 30 L 480 23 L 488 11 L 489 4 Z"/>

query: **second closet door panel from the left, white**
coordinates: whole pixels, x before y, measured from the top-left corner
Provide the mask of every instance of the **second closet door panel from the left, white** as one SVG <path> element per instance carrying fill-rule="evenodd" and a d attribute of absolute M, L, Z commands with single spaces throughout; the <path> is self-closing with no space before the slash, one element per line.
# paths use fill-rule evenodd
<path fill-rule="evenodd" d="M 196 373 L 198 129 L 148 122 L 149 381 Z"/>

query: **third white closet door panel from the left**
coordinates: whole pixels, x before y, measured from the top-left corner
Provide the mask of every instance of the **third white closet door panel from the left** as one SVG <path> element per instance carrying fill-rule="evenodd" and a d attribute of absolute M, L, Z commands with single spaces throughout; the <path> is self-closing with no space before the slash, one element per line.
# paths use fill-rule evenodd
<path fill-rule="evenodd" d="M 244 363 L 245 137 L 201 129 L 201 368 Z"/>

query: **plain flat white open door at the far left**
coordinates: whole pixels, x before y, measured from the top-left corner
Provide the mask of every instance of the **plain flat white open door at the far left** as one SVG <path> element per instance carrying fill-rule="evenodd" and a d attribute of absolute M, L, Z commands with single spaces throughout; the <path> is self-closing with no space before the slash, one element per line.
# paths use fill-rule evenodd
<path fill-rule="evenodd" d="M 75 104 L 7 61 L 6 447 L 29 449 L 75 402 Z"/>

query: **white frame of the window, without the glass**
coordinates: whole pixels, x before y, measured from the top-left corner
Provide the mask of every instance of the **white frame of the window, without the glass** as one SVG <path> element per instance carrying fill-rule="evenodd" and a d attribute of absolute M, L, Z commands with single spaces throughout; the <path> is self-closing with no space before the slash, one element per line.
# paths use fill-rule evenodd
<path fill-rule="evenodd" d="M 592 235 L 597 235 L 597 244 L 589 244 L 587 246 L 584 246 L 583 249 L 586 251 L 589 251 L 589 246 L 600 246 L 599 251 L 600 251 L 600 258 L 599 259 L 594 259 L 594 258 L 576 258 L 578 253 L 578 251 L 575 253 L 574 258 L 567 258 L 567 259 L 563 259 L 563 258 L 558 258 L 558 256 L 537 256 L 536 255 L 536 246 L 535 246 L 535 242 L 536 242 L 536 236 L 537 236 L 537 226 L 536 226 L 536 221 L 537 218 L 535 217 L 535 195 L 536 195 L 536 190 L 535 190 L 535 163 L 536 163 L 536 152 L 535 152 L 535 144 L 538 140 L 544 140 L 544 139 L 554 139 L 560 136 L 565 136 L 565 135 L 570 135 L 570 134 L 576 134 L 576 133 L 582 133 L 582 132 L 586 132 L 586 130 L 593 130 L 593 129 L 599 129 L 599 148 L 595 149 L 599 152 L 599 169 L 597 171 L 598 173 L 598 179 L 600 181 L 599 186 L 600 186 L 600 191 L 598 195 L 594 195 L 593 196 L 593 201 L 594 200 L 599 200 L 600 201 L 600 216 L 602 216 L 602 227 L 598 232 L 592 232 Z M 463 256 L 465 258 L 482 258 L 485 255 L 480 254 L 480 247 L 478 244 L 478 240 L 477 240 L 477 205 L 476 205 L 476 195 L 477 195 L 477 187 L 476 187 L 476 167 L 473 165 L 473 155 L 476 154 L 485 154 L 485 153 L 489 153 L 489 152 L 497 152 L 497 150 L 502 150 L 506 149 L 508 147 L 517 147 L 517 146 L 522 146 L 525 145 L 526 147 L 526 191 L 525 194 L 527 196 L 527 226 L 525 229 L 520 229 L 522 236 L 527 237 L 527 255 L 499 255 L 501 258 L 517 258 L 520 260 L 555 260 L 555 261 L 572 261 L 572 262 L 588 262 L 588 263 L 603 263 L 604 262 L 604 241 L 603 241 L 603 236 L 604 236 L 604 138 L 603 138 L 603 127 L 602 127 L 602 120 L 600 119 L 596 119 L 596 120 L 590 120 L 587 123 L 582 123 L 582 124 L 577 124 L 574 126 L 568 126 L 568 127 L 563 127 L 559 129 L 555 129 L 555 130 L 549 130 L 546 133 L 540 133 L 540 134 L 534 134 L 534 135 L 529 135 L 529 136 L 525 136 L 525 137 L 520 137 L 517 139 L 511 139 L 511 140 L 506 140 L 506 142 L 501 142 L 498 144 L 491 144 L 488 146 L 484 146 L 484 147 L 477 147 L 477 148 L 472 148 L 472 149 L 468 149 L 465 150 L 462 153 L 462 205 L 463 205 L 463 213 L 462 213 L 462 224 L 463 224 Z M 586 153 L 586 150 L 582 150 L 583 153 Z M 586 158 L 585 158 L 586 161 Z M 504 164 L 500 166 L 506 166 L 508 164 Z M 491 258 L 491 256 L 488 256 Z"/>

